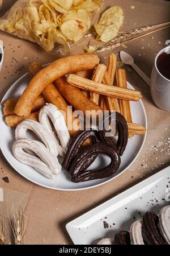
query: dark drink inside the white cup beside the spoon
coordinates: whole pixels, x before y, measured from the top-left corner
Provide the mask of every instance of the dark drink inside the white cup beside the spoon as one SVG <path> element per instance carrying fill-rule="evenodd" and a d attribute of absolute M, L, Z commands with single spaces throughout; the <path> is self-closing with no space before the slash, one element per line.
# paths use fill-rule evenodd
<path fill-rule="evenodd" d="M 159 55 L 156 65 L 159 72 L 170 80 L 170 52 L 163 52 Z"/>

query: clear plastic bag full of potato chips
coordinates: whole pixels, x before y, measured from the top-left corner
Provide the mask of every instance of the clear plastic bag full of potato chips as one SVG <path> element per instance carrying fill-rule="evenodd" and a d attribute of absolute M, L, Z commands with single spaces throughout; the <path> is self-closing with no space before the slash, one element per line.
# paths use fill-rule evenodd
<path fill-rule="evenodd" d="M 50 53 L 69 54 L 90 29 L 103 0 L 18 0 L 0 19 L 0 30 L 39 44 Z"/>

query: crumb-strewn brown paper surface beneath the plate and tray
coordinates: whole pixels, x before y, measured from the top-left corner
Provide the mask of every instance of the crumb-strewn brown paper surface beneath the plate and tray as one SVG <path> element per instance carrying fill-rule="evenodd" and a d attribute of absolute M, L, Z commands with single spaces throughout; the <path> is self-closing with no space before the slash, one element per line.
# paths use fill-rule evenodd
<path fill-rule="evenodd" d="M 120 5 L 125 12 L 125 22 L 122 29 L 136 28 L 169 21 L 170 2 L 163 0 L 111 0 L 106 1 L 106 7 Z M 135 6 L 131 9 L 130 6 Z M 102 10 L 101 10 L 102 11 Z M 154 39 L 151 39 L 154 36 Z M 135 59 L 135 63 L 146 73 L 151 75 L 152 65 L 156 53 L 165 47 L 165 40 L 170 39 L 170 29 L 155 32 L 144 36 L 142 39 L 127 43 L 128 48 L 119 47 L 129 52 Z M 56 56 L 49 55 L 39 46 L 25 40 L 15 38 L 0 31 L 0 39 L 5 46 L 5 60 L 1 77 L 0 97 L 7 89 L 28 70 L 32 61 L 49 63 Z M 82 52 L 83 41 L 79 46 L 74 46 L 72 53 Z M 144 48 L 143 48 L 144 47 Z M 101 62 L 105 63 L 109 52 L 101 55 Z M 170 163 L 169 137 L 170 123 L 169 112 L 158 109 L 151 100 L 150 88 L 133 70 L 127 70 L 128 81 L 141 90 L 143 103 L 148 118 L 148 131 L 145 146 L 135 163 L 117 179 L 97 188 L 78 192 L 53 191 L 42 188 L 25 180 L 17 174 L 7 163 L 1 153 L 0 159 L 0 187 L 12 189 L 29 195 L 29 201 L 25 214 L 31 214 L 25 243 L 27 244 L 67 244 L 71 243 L 66 232 L 65 224 L 80 214 L 87 212 L 105 200 L 137 184 L 147 176 L 166 167 Z M 8 176 L 10 183 L 5 183 L 2 177 Z"/>

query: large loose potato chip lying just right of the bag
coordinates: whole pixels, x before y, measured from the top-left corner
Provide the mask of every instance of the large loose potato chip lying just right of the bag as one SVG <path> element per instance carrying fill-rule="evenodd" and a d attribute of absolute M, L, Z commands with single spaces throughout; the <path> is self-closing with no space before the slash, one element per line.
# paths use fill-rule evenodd
<path fill-rule="evenodd" d="M 120 6 L 113 6 L 107 9 L 99 22 L 94 25 L 98 34 L 97 39 L 102 42 L 108 42 L 118 35 L 118 30 L 124 22 L 124 11 Z"/>

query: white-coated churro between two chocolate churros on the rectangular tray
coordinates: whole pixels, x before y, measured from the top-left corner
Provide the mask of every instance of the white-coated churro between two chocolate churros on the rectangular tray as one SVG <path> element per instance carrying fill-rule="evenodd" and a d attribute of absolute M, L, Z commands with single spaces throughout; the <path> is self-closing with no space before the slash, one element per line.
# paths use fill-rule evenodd
<path fill-rule="evenodd" d="M 135 221 L 130 226 L 130 243 L 131 245 L 144 245 L 142 238 L 142 223 Z"/>

